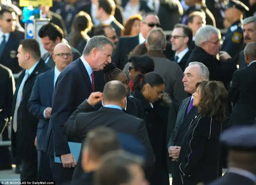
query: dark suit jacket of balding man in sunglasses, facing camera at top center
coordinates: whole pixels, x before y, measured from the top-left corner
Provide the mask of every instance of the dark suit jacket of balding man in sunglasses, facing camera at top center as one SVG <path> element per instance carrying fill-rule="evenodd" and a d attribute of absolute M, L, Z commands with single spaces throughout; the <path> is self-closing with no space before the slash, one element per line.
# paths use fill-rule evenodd
<path fill-rule="evenodd" d="M 124 65 L 128 62 L 128 54 L 139 44 L 139 35 L 134 37 L 121 37 L 118 42 L 118 46 L 113 52 L 112 62 L 116 64 L 116 67 L 123 70 Z M 172 51 L 172 45 L 167 43 L 164 55 L 170 59 L 174 52 Z"/>

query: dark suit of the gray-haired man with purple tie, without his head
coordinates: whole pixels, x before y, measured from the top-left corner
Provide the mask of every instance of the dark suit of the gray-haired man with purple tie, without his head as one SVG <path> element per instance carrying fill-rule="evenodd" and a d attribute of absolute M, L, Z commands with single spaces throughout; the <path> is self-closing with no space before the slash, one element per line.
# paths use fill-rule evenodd
<path fill-rule="evenodd" d="M 191 100 L 191 96 L 184 99 L 181 103 L 180 103 L 180 109 L 178 111 L 178 115 L 177 115 L 177 119 L 176 119 L 176 125 L 174 128 L 174 131 L 172 132 L 171 138 L 169 140 L 169 144 L 168 147 L 170 146 L 181 146 L 181 143 L 183 141 L 183 138 L 188 130 L 189 124 L 191 122 L 191 120 L 196 116 L 197 114 L 197 107 L 192 107 L 192 109 L 188 112 L 187 114 L 187 110 L 188 110 L 188 105 L 190 103 Z M 177 169 L 179 168 L 177 162 L 173 162 L 173 169 Z M 172 179 L 175 178 L 180 180 L 178 181 L 178 183 L 176 182 L 176 184 L 182 184 L 181 179 L 180 179 L 180 174 L 177 173 L 176 171 L 173 171 L 172 173 Z M 174 184 L 174 183 L 172 183 Z"/>

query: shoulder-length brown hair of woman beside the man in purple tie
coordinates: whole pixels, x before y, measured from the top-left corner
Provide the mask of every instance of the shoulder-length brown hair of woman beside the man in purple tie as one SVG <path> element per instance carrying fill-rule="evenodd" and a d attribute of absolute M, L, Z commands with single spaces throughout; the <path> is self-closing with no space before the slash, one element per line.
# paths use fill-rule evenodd
<path fill-rule="evenodd" d="M 196 84 L 200 92 L 198 112 L 208 117 L 223 121 L 228 102 L 228 91 L 222 82 L 202 81 Z"/>

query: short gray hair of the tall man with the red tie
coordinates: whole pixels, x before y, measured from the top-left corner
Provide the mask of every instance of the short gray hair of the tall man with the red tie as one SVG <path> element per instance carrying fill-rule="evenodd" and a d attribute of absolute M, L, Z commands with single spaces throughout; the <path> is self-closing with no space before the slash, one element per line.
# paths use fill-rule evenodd
<path fill-rule="evenodd" d="M 101 50 L 107 44 L 111 45 L 114 49 L 114 44 L 105 36 L 94 36 L 88 40 L 86 46 L 84 47 L 83 55 L 89 55 L 93 48 Z"/>

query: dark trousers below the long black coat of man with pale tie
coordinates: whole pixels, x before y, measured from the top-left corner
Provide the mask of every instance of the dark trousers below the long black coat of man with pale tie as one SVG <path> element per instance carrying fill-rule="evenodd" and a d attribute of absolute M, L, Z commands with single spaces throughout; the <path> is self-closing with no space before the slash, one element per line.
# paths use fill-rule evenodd
<path fill-rule="evenodd" d="M 21 160 L 22 171 L 20 181 L 37 181 L 37 160 Z"/>

